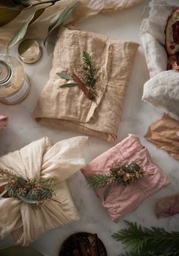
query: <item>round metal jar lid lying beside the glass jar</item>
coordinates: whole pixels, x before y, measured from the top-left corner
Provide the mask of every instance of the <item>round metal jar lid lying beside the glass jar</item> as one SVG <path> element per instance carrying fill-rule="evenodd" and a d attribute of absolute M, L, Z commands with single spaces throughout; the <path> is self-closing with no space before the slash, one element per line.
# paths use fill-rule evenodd
<path fill-rule="evenodd" d="M 33 64 L 42 56 L 42 48 L 36 40 L 26 39 L 19 44 L 18 55 L 23 62 Z"/>

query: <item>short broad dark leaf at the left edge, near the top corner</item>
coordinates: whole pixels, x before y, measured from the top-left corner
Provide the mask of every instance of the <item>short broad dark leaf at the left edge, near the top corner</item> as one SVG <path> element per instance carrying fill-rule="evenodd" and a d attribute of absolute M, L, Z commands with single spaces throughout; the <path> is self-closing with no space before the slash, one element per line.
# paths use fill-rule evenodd
<path fill-rule="evenodd" d="M 0 6 L 0 27 L 12 21 L 18 14 L 20 14 L 19 9 Z"/>

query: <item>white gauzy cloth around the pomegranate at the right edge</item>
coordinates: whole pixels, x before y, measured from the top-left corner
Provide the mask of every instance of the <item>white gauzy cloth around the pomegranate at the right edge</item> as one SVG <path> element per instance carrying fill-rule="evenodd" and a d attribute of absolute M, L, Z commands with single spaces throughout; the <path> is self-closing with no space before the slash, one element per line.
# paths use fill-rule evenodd
<path fill-rule="evenodd" d="M 165 26 L 177 0 L 152 0 L 149 18 L 143 20 L 140 38 L 143 44 L 150 79 L 143 88 L 143 101 L 179 116 L 179 72 L 166 70 Z"/>

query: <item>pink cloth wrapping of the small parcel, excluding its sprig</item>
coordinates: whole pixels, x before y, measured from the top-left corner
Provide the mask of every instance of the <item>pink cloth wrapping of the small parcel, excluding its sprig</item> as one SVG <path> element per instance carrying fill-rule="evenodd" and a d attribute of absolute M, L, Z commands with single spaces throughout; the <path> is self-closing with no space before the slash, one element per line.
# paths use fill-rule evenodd
<path fill-rule="evenodd" d="M 85 177 L 92 174 L 108 174 L 109 166 L 117 159 L 122 162 L 137 162 L 143 168 L 144 175 L 137 182 L 129 185 L 112 184 L 105 201 L 103 200 L 105 187 L 95 190 L 114 222 L 118 222 L 127 213 L 135 210 L 146 197 L 169 184 L 165 173 L 152 162 L 148 150 L 133 134 L 86 164 L 81 171 Z"/>

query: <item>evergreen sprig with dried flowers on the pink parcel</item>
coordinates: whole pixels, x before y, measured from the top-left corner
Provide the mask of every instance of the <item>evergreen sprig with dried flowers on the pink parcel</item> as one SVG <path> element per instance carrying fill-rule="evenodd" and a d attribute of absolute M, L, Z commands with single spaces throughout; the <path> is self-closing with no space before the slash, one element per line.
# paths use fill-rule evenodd
<path fill-rule="evenodd" d="M 97 189 L 105 187 L 103 199 L 106 200 L 112 183 L 130 184 L 143 176 L 143 169 L 136 162 L 120 162 L 116 160 L 110 166 L 108 174 L 94 174 L 86 178 L 89 187 Z"/>

